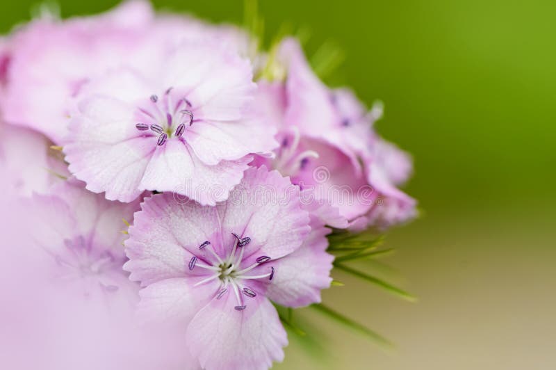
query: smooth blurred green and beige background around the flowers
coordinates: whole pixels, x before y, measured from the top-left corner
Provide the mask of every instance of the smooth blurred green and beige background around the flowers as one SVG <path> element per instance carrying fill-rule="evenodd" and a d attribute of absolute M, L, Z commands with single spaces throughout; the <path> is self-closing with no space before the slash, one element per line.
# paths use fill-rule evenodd
<path fill-rule="evenodd" d="M 4 1 L 1 31 L 35 1 Z M 63 16 L 117 1 L 58 1 Z M 241 22 L 243 1 L 155 1 Z M 306 310 L 326 355 L 291 338 L 277 369 L 556 369 L 556 2 L 260 1 L 268 39 L 310 31 L 345 62 L 329 82 L 386 106 L 379 131 L 414 155 L 407 191 L 423 217 L 390 233 L 368 268 L 419 297 L 407 303 L 336 276 L 325 302 L 389 337 L 393 353 Z M 366 267 L 366 266 L 363 266 Z M 318 337 L 322 339 L 321 336 Z"/>

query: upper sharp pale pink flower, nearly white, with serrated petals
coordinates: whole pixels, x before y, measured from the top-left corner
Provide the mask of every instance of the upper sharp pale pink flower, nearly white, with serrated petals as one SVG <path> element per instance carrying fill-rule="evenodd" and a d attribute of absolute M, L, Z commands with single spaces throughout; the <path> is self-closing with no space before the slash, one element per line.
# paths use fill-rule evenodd
<path fill-rule="evenodd" d="M 226 200 L 248 154 L 275 147 L 252 112 L 250 63 L 220 43 L 184 42 L 148 70 L 120 69 L 77 97 L 64 146 L 90 191 L 129 202 L 144 190 Z"/>

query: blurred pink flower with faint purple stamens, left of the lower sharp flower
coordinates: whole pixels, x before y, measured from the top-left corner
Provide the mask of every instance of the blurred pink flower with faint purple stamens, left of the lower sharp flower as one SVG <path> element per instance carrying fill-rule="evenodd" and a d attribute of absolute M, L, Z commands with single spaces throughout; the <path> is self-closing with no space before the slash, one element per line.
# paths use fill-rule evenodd
<path fill-rule="evenodd" d="M 42 260 L 45 275 L 90 297 L 92 304 L 103 305 L 108 298 L 122 307 L 135 303 L 136 287 L 122 270 L 122 230 L 133 221 L 139 202 L 111 202 L 70 179 L 50 194 L 33 195 L 24 207 L 32 225 L 33 255 Z"/>

